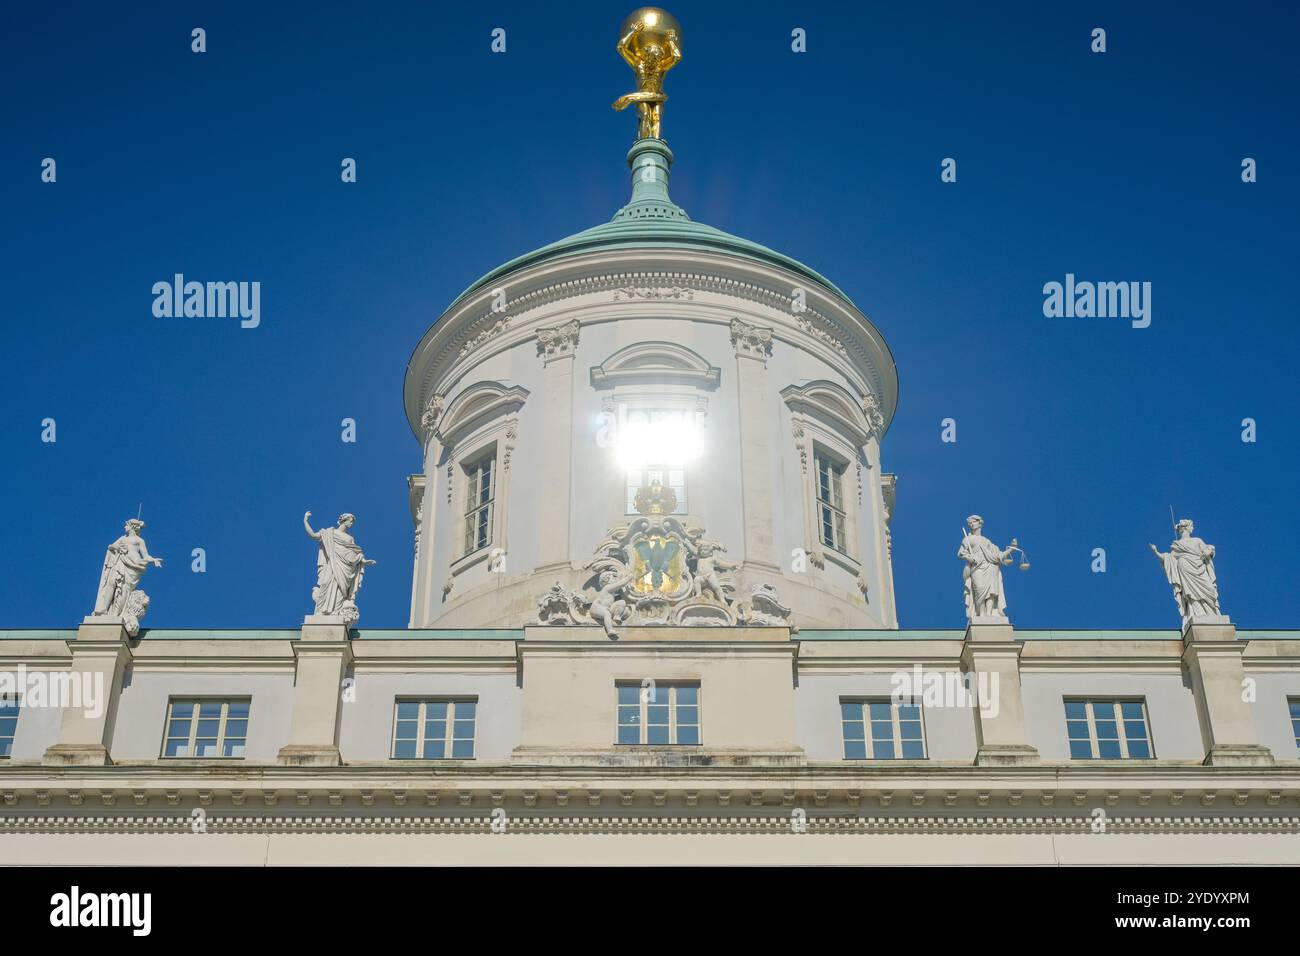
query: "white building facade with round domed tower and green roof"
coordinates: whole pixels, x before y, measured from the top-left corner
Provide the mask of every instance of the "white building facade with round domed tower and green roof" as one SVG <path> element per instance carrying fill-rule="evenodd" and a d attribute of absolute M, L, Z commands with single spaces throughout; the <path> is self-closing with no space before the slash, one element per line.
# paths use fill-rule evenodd
<path fill-rule="evenodd" d="M 411 626 L 0 631 L 0 856 L 1300 862 L 1300 632 L 900 628 L 883 337 L 628 160 L 412 355 Z"/>

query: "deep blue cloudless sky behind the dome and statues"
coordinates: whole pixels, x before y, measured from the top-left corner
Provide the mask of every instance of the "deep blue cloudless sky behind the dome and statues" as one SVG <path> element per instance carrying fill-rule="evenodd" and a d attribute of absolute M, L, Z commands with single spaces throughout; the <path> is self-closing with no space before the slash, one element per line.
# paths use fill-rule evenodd
<path fill-rule="evenodd" d="M 144 581 L 152 627 L 296 626 L 308 509 L 358 514 L 380 561 L 361 623 L 403 627 L 406 360 L 474 278 L 624 202 L 633 118 L 608 104 L 630 88 L 614 51 L 630 7 L 10 9 L 0 626 L 75 626 L 143 502 L 166 559 Z M 1300 626 L 1294 8 L 668 9 L 686 55 L 667 87 L 673 198 L 831 277 L 893 349 L 904 627 L 962 626 L 971 511 L 1034 562 L 1008 580 L 1017 626 L 1176 627 L 1147 550 L 1170 505 L 1218 546 L 1239 627 Z M 176 272 L 260 281 L 261 325 L 153 317 Z M 1149 281 L 1150 328 L 1044 317 L 1067 272 Z"/>

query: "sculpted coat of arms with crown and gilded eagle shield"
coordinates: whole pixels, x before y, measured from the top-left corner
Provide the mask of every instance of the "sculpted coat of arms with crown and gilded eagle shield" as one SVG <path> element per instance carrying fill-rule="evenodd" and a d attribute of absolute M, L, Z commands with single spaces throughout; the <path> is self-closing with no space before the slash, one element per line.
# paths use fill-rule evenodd
<path fill-rule="evenodd" d="M 654 627 L 789 627 L 790 609 L 771 584 L 750 588 L 738 601 L 728 572 L 740 564 L 720 557 L 727 549 L 673 516 L 677 496 L 653 481 L 637 489 L 640 518 L 611 528 L 588 562 L 586 588 L 556 581 L 537 602 L 540 624 L 599 624 L 610 640 L 624 624 Z"/>

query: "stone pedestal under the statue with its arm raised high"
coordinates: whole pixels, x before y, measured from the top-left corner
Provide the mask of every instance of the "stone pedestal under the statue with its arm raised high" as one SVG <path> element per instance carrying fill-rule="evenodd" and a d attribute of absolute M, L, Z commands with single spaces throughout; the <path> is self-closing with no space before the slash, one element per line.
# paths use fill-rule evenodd
<path fill-rule="evenodd" d="M 342 618 L 308 615 L 294 641 L 294 714 L 289 743 L 277 754 L 290 766 L 339 766 L 338 719 L 352 645 Z"/>

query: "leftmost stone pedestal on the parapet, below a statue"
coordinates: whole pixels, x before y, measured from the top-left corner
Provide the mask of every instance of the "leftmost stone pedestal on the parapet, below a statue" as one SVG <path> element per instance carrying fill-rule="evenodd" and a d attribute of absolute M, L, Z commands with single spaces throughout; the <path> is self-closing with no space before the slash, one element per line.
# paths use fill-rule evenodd
<path fill-rule="evenodd" d="M 122 672 L 131 659 L 126 627 L 121 618 L 88 617 L 68 648 L 73 653 L 69 691 L 78 688 L 79 698 L 64 701 L 58 743 L 46 750 L 42 762 L 108 766 L 113 762 L 108 745 L 122 693 Z"/>

